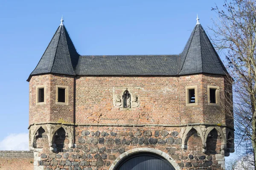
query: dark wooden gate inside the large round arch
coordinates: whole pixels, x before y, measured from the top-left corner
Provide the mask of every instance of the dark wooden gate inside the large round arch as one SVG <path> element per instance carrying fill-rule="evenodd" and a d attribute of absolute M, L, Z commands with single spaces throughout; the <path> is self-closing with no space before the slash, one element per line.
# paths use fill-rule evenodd
<path fill-rule="evenodd" d="M 140 153 L 129 156 L 117 164 L 115 170 L 175 170 L 160 156 L 152 153 Z"/>

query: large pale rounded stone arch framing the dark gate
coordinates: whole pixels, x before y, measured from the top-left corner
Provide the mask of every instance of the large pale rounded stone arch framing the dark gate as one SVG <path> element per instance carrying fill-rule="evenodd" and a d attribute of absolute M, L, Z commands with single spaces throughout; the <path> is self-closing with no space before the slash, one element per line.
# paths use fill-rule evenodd
<path fill-rule="evenodd" d="M 122 161 L 123 159 L 127 158 L 128 156 L 131 156 L 133 154 L 136 153 L 154 153 L 156 155 L 162 156 L 163 158 L 165 158 L 167 161 L 169 161 L 170 164 L 172 164 L 172 166 L 175 168 L 175 170 L 180 170 L 180 166 L 175 162 L 174 159 L 172 159 L 171 156 L 169 156 L 169 154 L 164 153 L 161 150 L 157 150 L 154 148 L 147 148 L 147 147 L 143 147 L 143 148 L 135 148 L 135 149 L 131 149 L 126 151 L 125 153 L 122 153 L 121 155 L 119 155 L 115 161 L 113 161 L 113 163 L 111 164 L 111 167 L 109 168 L 109 170 L 114 170 L 114 168 L 116 167 L 117 163 L 119 161 Z"/>

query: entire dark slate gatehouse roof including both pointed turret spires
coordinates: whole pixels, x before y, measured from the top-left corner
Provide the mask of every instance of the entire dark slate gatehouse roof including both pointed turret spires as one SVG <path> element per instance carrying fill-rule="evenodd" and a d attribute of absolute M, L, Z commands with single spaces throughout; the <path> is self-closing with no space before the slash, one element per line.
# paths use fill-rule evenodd
<path fill-rule="evenodd" d="M 221 59 L 201 24 L 197 24 L 177 55 L 81 56 L 64 25 L 60 25 L 35 70 L 30 74 L 80 76 L 177 76 L 209 73 L 225 75 Z M 29 81 L 28 79 L 28 81 Z"/>

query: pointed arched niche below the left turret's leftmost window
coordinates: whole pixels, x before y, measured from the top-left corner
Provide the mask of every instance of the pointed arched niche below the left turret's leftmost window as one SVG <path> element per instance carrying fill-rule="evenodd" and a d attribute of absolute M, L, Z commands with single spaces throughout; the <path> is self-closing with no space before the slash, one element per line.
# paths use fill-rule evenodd
<path fill-rule="evenodd" d="M 40 126 L 33 135 L 32 147 L 34 148 L 44 148 L 48 146 L 49 139 L 46 130 Z"/>

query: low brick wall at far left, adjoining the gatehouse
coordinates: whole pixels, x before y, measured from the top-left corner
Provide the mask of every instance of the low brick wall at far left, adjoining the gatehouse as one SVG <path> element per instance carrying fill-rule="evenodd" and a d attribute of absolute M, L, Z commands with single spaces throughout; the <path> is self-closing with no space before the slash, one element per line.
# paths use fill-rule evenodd
<path fill-rule="evenodd" d="M 34 170 L 33 151 L 0 151 L 0 170 Z"/>

